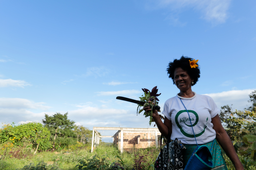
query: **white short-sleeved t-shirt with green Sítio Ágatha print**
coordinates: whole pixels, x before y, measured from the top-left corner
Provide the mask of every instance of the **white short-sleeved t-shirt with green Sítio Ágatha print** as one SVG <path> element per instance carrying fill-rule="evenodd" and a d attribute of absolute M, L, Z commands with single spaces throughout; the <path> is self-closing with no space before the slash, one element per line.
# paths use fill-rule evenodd
<path fill-rule="evenodd" d="M 172 121 L 171 139 L 178 138 L 183 144 L 196 144 L 188 113 L 180 98 L 189 112 L 197 144 L 214 140 L 216 132 L 212 128 L 211 118 L 215 117 L 220 110 L 210 96 L 196 93 L 191 98 L 180 97 L 177 94 L 164 103 L 162 114 Z"/>

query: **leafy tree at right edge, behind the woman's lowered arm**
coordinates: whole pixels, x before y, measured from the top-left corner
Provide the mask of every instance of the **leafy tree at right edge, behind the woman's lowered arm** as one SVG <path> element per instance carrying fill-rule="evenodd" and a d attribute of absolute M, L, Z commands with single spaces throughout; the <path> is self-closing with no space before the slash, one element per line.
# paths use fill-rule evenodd
<path fill-rule="evenodd" d="M 251 107 L 243 111 L 232 111 L 228 105 L 221 107 L 220 119 L 224 124 L 231 140 L 235 142 L 237 152 L 245 157 L 251 157 L 256 160 L 256 90 L 250 95 L 248 102 Z M 242 160 L 242 163 L 244 160 Z M 243 163 L 245 166 L 245 162 Z"/>

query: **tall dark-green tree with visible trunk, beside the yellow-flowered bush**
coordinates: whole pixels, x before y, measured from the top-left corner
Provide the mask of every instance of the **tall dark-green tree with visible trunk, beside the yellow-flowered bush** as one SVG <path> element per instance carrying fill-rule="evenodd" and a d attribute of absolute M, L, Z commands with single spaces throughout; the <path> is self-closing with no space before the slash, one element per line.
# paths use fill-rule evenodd
<path fill-rule="evenodd" d="M 50 130 L 52 150 L 68 147 L 76 137 L 72 131 L 75 122 L 68 119 L 68 112 L 63 115 L 56 112 L 52 116 L 45 114 L 42 122 Z"/>

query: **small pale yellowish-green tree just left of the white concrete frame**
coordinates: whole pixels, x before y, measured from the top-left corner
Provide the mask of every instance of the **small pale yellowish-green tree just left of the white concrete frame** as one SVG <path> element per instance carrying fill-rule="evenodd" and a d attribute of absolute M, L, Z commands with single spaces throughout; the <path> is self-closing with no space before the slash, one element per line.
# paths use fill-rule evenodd
<path fill-rule="evenodd" d="M 92 130 L 82 125 L 75 125 L 73 132 L 77 135 L 77 141 L 80 143 L 89 143 L 91 142 Z"/>

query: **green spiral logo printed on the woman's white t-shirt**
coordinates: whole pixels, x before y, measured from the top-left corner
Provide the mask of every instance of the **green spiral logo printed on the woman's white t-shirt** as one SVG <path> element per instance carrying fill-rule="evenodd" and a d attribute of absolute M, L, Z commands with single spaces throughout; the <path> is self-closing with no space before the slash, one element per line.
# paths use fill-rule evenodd
<path fill-rule="evenodd" d="M 183 118 L 180 118 L 180 120 L 178 120 L 179 115 L 182 114 L 182 113 L 184 113 L 184 112 L 187 112 L 187 111 L 186 111 L 186 110 L 180 110 L 180 111 L 176 114 L 176 116 L 175 116 L 175 123 L 176 123 L 176 125 L 179 127 L 180 132 L 181 132 L 183 135 L 185 135 L 186 137 L 189 137 L 189 138 L 194 138 L 194 134 L 193 134 L 193 133 L 191 134 L 191 133 L 185 132 L 185 130 L 184 130 L 184 128 L 183 128 L 182 126 L 188 126 L 188 127 L 193 127 L 193 126 L 195 126 L 195 125 L 197 124 L 197 122 L 198 122 L 198 114 L 197 114 L 194 110 L 188 110 L 189 113 L 193 113 L 193 114 L 196 116 L 196 117 L 195 117 L 196 120 L 194 120 L 194 118 L 191 118 L 191 117 L 190 117 L 190 119 L 189 119 L 188 117 L 183 117 Z M 207 118 L 207 120 L 208 120 L 208 118 Z M 207 121 L 207 120 L 206 120 L 206 121 Z M 192 126 L 191 126 L 190 121 L 191 121 L 191 123 L 195 121 L 195 122 L 192 124 Z M 202 132 L 200 132 L 200 133 L 198 133 L 198 134 L 196 134 L 196 132 L 195 132 L 195 136 L 198 137 L 198 136 L 202 135 L 202 134 L 205 132 L 205 128 L 206 128 L 206 126 L 204 127 L 204 129 L 202 130 Z M 191 129 L 191 130 L 192 130 L 192 129 Z"/>

